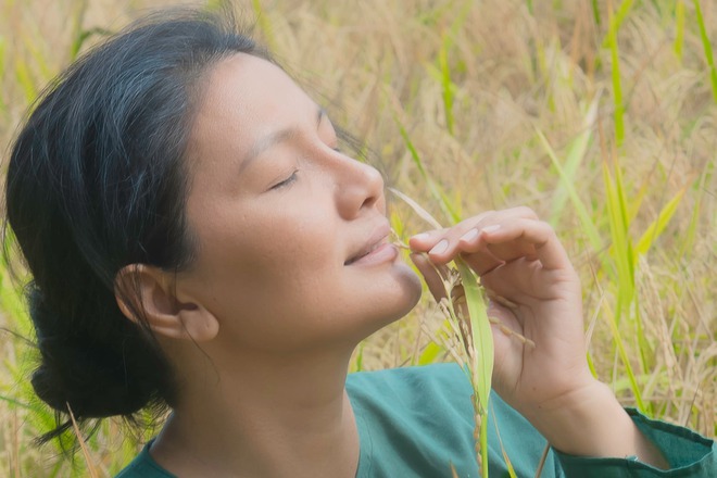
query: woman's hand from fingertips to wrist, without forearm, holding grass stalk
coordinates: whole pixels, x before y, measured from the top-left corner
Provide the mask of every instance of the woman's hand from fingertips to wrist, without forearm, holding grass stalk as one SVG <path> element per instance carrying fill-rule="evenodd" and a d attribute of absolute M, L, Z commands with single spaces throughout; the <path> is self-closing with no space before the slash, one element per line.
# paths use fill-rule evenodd
<path fill-rule="evenodd" d="M 534 342 L 493 325 L 493 388 L 529 416 L 593 383 L 586 361 L 581 289 L 553 229 L 527 207 L 485 213 L 443 230 L 415 236 L 416 266 L 437 300 L 445 297 L 436 267 L 461 255 L 479 275 L 488 315 Z"/>

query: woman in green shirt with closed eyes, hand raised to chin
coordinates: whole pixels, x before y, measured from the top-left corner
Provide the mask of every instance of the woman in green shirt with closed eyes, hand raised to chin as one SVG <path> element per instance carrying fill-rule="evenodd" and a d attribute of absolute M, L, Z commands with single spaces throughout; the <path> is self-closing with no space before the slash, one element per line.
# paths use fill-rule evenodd
<path fill-rule="evenodd" d="M 389 242 L 381 176 L 230 25 L 156 15 L 73 65 L 18 135 L 7 206 L 34 277 L 38 395 L 80 422 L 172 410 L 122 477 L 477 476 L 457 366 L 347 379 L 420 282 Z M 577 275 L 530 210 L 410 246 L 437 298 L 435 265 L 462 255 L 518 304 L 491 304 L 536 344 L 494 334 L 493 410 L 518 476 L 545 440 L 542 476 L 717 470 L 713 441 L 626 412 L 593 379 Z"/>

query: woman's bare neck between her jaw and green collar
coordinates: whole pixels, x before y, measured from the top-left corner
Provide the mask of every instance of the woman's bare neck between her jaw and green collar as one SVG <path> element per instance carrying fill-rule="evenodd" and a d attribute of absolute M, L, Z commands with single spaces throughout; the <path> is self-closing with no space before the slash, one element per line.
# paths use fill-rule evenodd
<path fill-rule="evenodd" d="M 237 355 L 187 361 L 192 380 L 152 446 L 154 458 L 183 477 L 353 477 L 350 350 Z"/>

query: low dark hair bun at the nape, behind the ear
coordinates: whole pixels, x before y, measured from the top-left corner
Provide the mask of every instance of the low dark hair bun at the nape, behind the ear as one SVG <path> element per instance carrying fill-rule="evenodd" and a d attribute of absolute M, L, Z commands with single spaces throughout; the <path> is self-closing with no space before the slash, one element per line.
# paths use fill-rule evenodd
<path fill-rule="evenodd" d="M 148 370 L 153 368 L 156 354 L 147 340 L 136 337 L 139 329 L 133 323 L 124 317 L 114 320 L 124 325 L 123 330 L 116 331 L 111 340 L 98 340 L 86 334 L 90 327 L 71 328 L 66 324 L 103 317 L 60 319 L 64 311 L 49 306 L 34 285 L 28 300 L 41 354 L 32 383 L 42 401 L 64 413 L 70 404 L 73 415 L 83 419 L 129 416 L 154 398 L 158 381 L 148 376 Z M 129 350 L 130 345 L 135 350 Z"/>

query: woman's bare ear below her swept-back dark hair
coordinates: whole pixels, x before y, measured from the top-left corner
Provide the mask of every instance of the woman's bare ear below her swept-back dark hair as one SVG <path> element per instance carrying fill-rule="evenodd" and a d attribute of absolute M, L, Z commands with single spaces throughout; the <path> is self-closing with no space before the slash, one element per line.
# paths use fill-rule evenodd
<path fill-rule="evenodd" d="M 146 264 L 123 267 L 114 281 L 114 295 L 122 313 L 171 339 L 205 342 L 216 337 L 216 317 L 199 302 L 177 300 L 173 278 Z"/>

